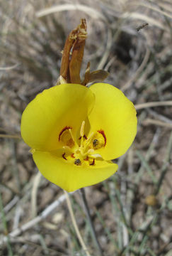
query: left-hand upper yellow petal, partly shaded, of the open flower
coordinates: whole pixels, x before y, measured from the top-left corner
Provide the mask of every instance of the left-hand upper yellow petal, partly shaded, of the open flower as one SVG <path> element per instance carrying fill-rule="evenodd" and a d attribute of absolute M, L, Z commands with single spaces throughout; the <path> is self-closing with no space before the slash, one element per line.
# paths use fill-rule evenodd
<path fill-rule="evenodd" d="M 76 134 L 93 103 L 93 93 L 83 85 L 64 84 L 44 90 L 25 108 L 21 136 L 33 149 L 57 149 L 62 129 L 71 127 Z"/>

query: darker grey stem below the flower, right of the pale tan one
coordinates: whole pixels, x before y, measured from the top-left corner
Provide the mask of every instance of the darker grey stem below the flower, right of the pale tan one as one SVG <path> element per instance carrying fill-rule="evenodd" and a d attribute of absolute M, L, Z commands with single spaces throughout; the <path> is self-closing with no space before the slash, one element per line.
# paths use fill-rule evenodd
<path fill-rule="evenodd" d="M 89 227 L 90 227 L 90 230 L 91 230 L 92 238 L 93 238 L 93 240 L 95 242 L 95 245 L 96 245 L 96 247 L 99 251 L 99 255 L 103 256 L 103 250 L 101 249 L 101 245 L 98 242 L 98 239 L 97 239 L 97 236 L 96 236 L 96 230 L 94 228 L 93 221 L 91 220 L 91 214 L 90 214 L 90 210 L 89 210 L 88 203 L 87 203 L 87 200 L 86 200 L 86 193 L 84 191 L 84 188 L 81 188 L 79 190 L 79 192 L 81 194 L 81 198 L 82 198 L 82 201 L 83 201 L 83 204 L 84 204 L 84 210 L 86 212 L 86 217 L 88 219 L 88 223 L 89 223 Z"/>

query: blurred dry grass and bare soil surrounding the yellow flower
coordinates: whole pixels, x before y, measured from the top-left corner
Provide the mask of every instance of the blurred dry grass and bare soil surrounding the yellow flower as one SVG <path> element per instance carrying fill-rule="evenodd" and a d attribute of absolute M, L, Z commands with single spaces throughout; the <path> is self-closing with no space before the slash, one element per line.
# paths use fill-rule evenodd
<path fill-rule="evenodd" d="M 81 195 L 70 195 L 90 255 L 172 255 L 172 2 L 0 2 L 0 255 L 86 255 L 63 191 L 45 180 L 20 137 L 21 114 L 56 84 L 69 32 L 86 18 L 82 73 L 105 80 L 137 108 L 138 132 L 117 174 L 86 188 L 98 251 Z M 149 102 L 156 102 L 154 105 Z M 59 201 L 61 198 L 61 201 Z M 101 254 L 100 254 L 101 253 Z"/>

